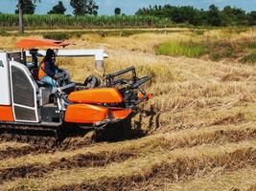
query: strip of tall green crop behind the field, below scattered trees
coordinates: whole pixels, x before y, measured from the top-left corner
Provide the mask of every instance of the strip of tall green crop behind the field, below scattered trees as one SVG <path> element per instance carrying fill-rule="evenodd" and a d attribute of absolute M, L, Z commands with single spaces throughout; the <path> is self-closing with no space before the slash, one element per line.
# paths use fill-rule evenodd
<path fill-rule="evenodd" d="M 165 27 L 171 25 L 168 19 L 154 16 L 71 16 L 71 15 L 24 15 L 29 28 L 134 28 Z M 0 14 L 1 27 L 18 26 L 18 15 Z"/>

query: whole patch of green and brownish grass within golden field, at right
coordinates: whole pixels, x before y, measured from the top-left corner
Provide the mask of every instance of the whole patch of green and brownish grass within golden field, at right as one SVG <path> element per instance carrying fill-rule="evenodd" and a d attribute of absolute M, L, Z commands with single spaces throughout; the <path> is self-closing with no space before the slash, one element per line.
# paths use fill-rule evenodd
<path fill-rule="evenodd" d="M 201 33 L 194 32 L 195 38 Z M 171 55 L 171 56 L 187 56 L 200 57 L 202 55 L 209 55 L 212 61 L 220 61 L 221 59 L 238 59 L 240 53 L 250 53 L 244 56 L 240 61 L 243 63 L 255 63 L 255 53 L 251 51 L 256 49 L 256 42 L 251 39 L 250 42 L 233 42 L 226 40 L 207 41 L 203 36 L 199 37 L 198 42 L 190 41 L 167 41 L 160 44 L 156 48 L 157 54 Z"/>

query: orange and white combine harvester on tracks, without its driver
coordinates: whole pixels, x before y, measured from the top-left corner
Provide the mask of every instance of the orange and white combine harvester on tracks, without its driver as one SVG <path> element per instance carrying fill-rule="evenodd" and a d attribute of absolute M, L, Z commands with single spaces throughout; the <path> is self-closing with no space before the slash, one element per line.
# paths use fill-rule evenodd
<path fill-rule="evenodd" d="M 56 56 L 95 56 L 96 67 L 103 67 L 107 57 L 102 49 L 61 49 L 68 45 L 64 41 L 23 39 L 16 43 L 21 51 L 0 52 L 2 140 L 52 146 L 63 140 L 67 127 L 104 128 L 126 119 L 134 107 L 151 97 L 141 88 L 151 76 L 138 78 L 134 67 L 105 75 L 102 85 L 94 76 L 87 77 L 84 84 L 74 83 L 62 70 L 58 89 L 52 94 L 50 87 L 38 80 L 37 60 L 46 53 L 38 49 L 54 49 Z M 128 73 L 131 78 L 121 77 Z"/>

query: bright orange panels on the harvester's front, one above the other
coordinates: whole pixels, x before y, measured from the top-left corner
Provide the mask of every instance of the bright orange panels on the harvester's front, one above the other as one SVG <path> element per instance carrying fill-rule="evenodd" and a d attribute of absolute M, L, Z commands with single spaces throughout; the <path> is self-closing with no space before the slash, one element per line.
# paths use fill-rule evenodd
<path fill-rule="evenodd" d="M 71 93 L 68 99 L 74 103 L 67 108 L 65 121 L 73 123 L 97 123 L 111 117 L 113 120 L 124 119 L 131 109 L 106 108 L 100 103 L 121 103 L 122 95 L 115 88 L 96 88 Z"/>

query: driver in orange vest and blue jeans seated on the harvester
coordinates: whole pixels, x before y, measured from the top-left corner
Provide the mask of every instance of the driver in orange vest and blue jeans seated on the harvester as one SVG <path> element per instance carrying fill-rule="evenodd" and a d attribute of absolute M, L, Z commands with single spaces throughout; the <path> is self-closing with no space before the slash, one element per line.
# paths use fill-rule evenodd
<path fill-rule="evenodd" d="M 55 93 L 58 87 L 58 77 L 60 71 L 58 66 L 55 65 L 56 53 L 52 49 L 48 49 L 45 57 L 41 62 L 38 77 L 40 81 L 45 82 L 50 85 L 51 92 Z"/>

